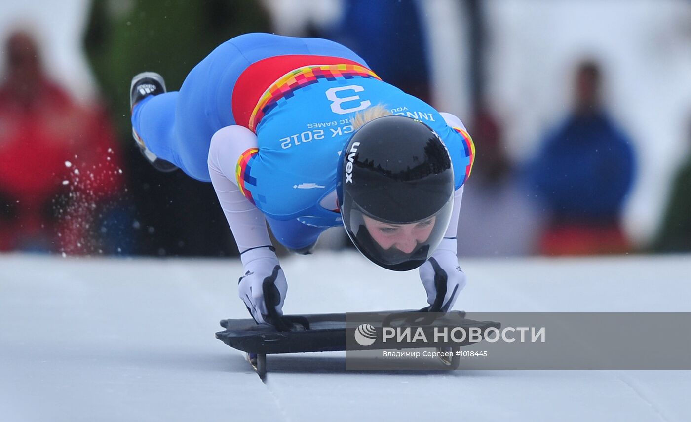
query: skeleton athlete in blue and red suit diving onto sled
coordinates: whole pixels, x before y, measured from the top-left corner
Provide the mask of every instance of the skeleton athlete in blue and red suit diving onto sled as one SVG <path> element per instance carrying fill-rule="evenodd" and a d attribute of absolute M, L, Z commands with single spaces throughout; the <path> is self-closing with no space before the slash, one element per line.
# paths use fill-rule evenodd
<path fill-rule="evenodd" d="M 429 311 L 448 311 L 464 287 L 456 228 L 471 137 L 348 48 L 240 35 L 177 92 L 157 73 L 135 76 L 131 108 L 153 166 L 214 185 L 245 269 L 238 293 L 258 323 L 282 324 L 287 292 L 267 223 L 298 253 L 343 225 L 375 264 L 419 267 Z"/>

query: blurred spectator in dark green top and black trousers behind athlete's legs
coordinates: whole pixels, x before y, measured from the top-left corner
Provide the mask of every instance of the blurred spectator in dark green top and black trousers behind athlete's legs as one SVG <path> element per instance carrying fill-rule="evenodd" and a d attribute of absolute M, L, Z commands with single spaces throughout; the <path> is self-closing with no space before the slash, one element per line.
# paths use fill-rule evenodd
<path fill-rule="evenodd" d="M 111 106 L 126 150 L 135 253 L 158 256 L 229 256 L 237 253 L 210 183 L 177 171 L 161 173 L 132 140 L 129 82 L 153 70 L 177 90 L 192 66 L 216 46 L 245 32 L 271 32 L 257 1 L 94 0 L 84 46 Z"/>

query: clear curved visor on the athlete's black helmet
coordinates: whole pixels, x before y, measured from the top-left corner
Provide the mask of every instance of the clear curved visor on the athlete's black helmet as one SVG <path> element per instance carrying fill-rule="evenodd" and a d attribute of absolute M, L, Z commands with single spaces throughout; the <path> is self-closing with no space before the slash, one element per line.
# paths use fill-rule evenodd
<path fill-rule="evenodd" d="M 413 222 L 388 222 L 365 213 L 354 202 L 345 209 L 345 231 L 366 258 L 379 267 L 408 271 L 424 264 L 444 238 L 453 210 L 453 194 L 439 211 Z"/>

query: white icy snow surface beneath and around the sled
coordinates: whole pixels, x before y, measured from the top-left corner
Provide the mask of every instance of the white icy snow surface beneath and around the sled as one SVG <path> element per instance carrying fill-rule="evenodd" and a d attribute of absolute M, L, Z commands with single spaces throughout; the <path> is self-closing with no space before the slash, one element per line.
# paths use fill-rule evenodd
<path fill-rule="evenodd" d="M 417 271 L 283 259 L 286 313 L 425 305 Z M 462 260 L 466 311 L 691 311 L 691 256 Z M 0 256 L 0 421 L 689 421 L 688 371 L 346 372 L 214 338 L 239 260 Z"/>

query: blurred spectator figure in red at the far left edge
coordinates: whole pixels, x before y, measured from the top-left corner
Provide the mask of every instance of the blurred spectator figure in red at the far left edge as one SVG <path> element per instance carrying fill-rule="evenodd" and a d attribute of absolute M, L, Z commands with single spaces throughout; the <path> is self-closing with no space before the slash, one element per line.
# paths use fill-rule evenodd
<path fill-rule="evenodd" d="M 12 32 L 0 86 L 0 250 L 91 253 L 121 186 L 108 120 L 46 75 L 35 39 Z"/>

